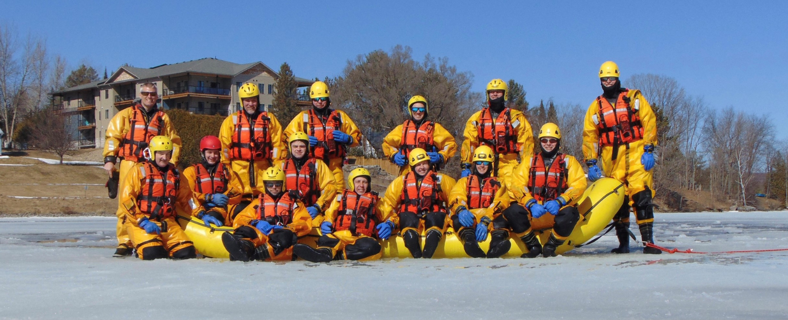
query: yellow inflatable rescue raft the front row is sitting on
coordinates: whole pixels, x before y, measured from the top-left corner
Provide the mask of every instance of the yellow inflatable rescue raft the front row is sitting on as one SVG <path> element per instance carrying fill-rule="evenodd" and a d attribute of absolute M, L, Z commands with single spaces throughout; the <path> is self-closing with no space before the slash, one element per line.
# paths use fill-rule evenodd
<path fill-rule="evenodd" d="M 597 233 L 600 233 L 612 220 L 619 207 L 624 202 L 624 185 L 618 180 L 604 177 L 589 185 L 585 193 L 578 200 L 578 210 L 580 211 L 580 221 L 574 226 L 567 241 L 558 249 L 556 253 L 570 251 L 576 246 L 590 240 Z M 542 244 L 550 236 L 552 226 L 552 215 L 533 221 L 533 229 L 536 230 Z M 543 219 L 544 218 L 544 219 Z M 548 220 L 549 219 L 549 220 Z M 229 254 L 221 244 L 221 233 L 232 232 L 232 227 L 216 227 L 215 225 L 206 226 L 202 220 L 193 217 L 178 216 L 180 226 L 184 229 L 197 251 L 211 258 L 229 259 Z M 300 243 L 315 246 L 321 233 L 318 228 L 313 228 L 312 232 L 299 240 Z M 423 235 L 422 235 L 423 238 Z M 479 247 L 485 252 L 489 249 L 490 236 L 481 242 Z M 518 257 L 526 251 L 526 245 L 519 238 L 511 240 L 511 249 L 504 257 Z M 392 236 L 388 240 L 380 240 L 383 247 L 384 258 L 410 258 L 411 252 L 407 250 L 402 237 Z M 440 240 L 440 244 L 435 251 L 433 258 L 463 258 L 468 257 L 463 249 L 463 242 L 459 240 L 451 227 L 448 228 L 446 236 Z"/>

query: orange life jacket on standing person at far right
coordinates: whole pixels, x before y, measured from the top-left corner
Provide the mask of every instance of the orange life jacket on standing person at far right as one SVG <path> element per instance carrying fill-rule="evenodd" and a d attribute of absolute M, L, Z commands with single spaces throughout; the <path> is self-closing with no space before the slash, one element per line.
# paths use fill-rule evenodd
<path fill-rule="evenodd" d="M 640 102 L 636 99 L 634 108 L 624 89 L 612 106 L 603 96 L 597 97 L 599 111 L 592 120 L 599 130 L 600 146 L 618 146 L 643 139 L 643 125 L 637 111 Z"/>

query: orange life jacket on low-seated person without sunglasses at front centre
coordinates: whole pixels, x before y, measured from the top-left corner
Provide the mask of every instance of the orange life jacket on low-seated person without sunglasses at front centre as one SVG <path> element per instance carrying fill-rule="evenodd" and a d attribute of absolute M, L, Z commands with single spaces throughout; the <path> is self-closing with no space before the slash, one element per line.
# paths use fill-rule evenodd
<path fill-rule="evenodd" d="M 375 204 L 380 199 L 377 192 L 363 195 L 345 189 L 340 207 L 336 211 L 336 231 L 350 230 L 354 234 L 372 236 L 375 231 Z"/>

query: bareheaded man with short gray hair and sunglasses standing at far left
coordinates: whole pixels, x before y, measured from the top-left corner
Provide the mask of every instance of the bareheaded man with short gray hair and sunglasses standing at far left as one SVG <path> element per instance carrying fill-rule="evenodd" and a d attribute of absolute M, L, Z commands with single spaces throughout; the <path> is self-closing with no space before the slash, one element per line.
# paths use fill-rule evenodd
<path fill-rule="evenodd" d="M 137 162 L 144 162 L 148 143 L 154 136 L 166 136 L 173 143 L 173 156 L 169 162 L 177 165 L 180 155 L 180 136 L 175 132 L 173 122 L 162 110 L 158 109 L 158 89 L 156 84 L 146 82 L 139 86 L 140 101 L 135 105 L 121 110 L 110 120 L 106 128 L 104 142 L 104 169 L 113 176 L 118 171 L 118 185 L 124 185 L 125 177 Z M 121 159 L 119 169 L 115 168 L 117 159 Z M 117 209 L 117 249 L 114 257 L 132 255 L 132 241 L 123 227 L 125 214 L 121 210 L 118 197 Z"/>

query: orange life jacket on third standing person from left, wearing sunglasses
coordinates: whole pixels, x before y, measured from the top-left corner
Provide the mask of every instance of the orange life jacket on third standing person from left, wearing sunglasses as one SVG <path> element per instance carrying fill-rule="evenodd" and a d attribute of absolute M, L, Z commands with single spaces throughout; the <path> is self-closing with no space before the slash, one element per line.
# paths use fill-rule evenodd
<path fill-rule="evenodd" d="M 342 158 L 345 155 L 344 144 L 333 140 L 334 130 L 342 131 L 342 117 L 336 110 L 329 111 L 325 123 L 314 110 L 303 113 L 303 132 L 318 138 L 318 144 L 310 147 L 310 154 L 312 158 L 322 159 L 326 163 L 329 158 Z"/>

